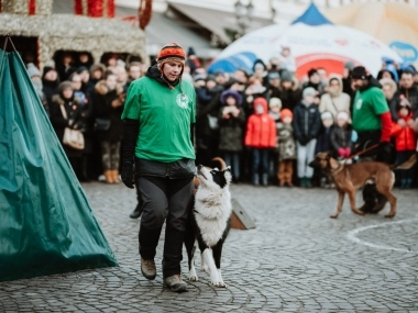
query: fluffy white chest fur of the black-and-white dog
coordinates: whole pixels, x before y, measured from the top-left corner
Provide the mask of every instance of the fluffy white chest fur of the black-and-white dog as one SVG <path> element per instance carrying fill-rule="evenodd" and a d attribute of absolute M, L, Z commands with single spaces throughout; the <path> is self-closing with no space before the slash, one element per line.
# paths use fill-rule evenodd
<path fill-rule="evenodd" d="M 212 191 L 200 188 L 196 192 L 195 213 L 204 242 L 209 247 L 215 246 L 222 238 L 232 213 L 229 189 Z"/>

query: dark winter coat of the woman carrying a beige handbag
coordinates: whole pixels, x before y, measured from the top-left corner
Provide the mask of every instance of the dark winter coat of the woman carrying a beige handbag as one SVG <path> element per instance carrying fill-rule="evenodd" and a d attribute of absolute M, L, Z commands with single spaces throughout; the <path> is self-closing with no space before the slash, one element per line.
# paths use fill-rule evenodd
<path fill-rule="evenodd" d="M 65 108 L 67 119 L 63 115 L 63 111 L 61 109 L 62 105 Z M 82 105 L 77 99 L 73 98 L 69 100 L 64 100 L 59 94 L 53 96 L 50 108 L 51 124 L 53 125 L 55 134 L 62 144 L 64 139 L 64 130 L 66 127 L 72 130 L 80 130 L 81 132 L 84 131 L 85 121 L 82 110 Z M 82 150 L 74 149 L 66 145 L 63 145 L 63 147 L 67 157 L 78 157 L 82 154 Z"/>

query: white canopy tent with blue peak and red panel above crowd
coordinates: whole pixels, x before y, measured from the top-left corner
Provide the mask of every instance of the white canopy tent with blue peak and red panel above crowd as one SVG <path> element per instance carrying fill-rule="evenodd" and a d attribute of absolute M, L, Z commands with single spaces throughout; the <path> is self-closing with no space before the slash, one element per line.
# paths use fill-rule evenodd
<path fill-rule="evenodd" d="M 233 71 L 231 59 L 239 54 L 252 53 L 265 63 L 290 47 L 296 59 L 296 75 L 301 78 L 310 68 L 323 67 L 328 72 L 342 74 L 344 63 L 365 66 L 373 75 L 382 68 L 382 58 L 402 62 L 387 45 L 360 31 L 332 24 L 311 3 L 307 11 L 289 25 L 270 25 L 254 31 L 228 46 L 209 67 L 219 68 L 228 63 L 226 71 Z M 251 67 L 244 67 L 252 71 Z"/>

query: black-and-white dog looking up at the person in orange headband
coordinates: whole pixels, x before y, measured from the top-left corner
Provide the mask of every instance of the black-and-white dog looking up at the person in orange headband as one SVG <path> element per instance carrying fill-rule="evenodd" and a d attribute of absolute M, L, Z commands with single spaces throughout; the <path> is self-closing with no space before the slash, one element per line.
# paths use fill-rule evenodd
<path fill-rule="evenodd" d="M 189 264 L 189 280 L 197 281 L 195 269 L 195 242 L 201 254 L 201 269 L 210 273 L 215 287 L 223 287 L 221 275 L 222 246 L 231 227 L 231 170 L 224 161 L 217 158 L 222 169 L 198 166 L 199 186 L 194 208 L 190 211 L 186 231 L 185 246 Z"/>

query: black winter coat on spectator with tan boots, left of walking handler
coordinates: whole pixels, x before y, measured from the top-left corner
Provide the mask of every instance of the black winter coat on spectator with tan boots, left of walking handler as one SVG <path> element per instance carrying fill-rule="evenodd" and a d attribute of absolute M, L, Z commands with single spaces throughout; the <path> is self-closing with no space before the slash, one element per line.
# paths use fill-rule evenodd
<path fill-rule="evenodd" d="M 105 142 L 120 142 L 123 137 L 123 122 L 121 114 L 123 112 L 123 104 L 117 108 L 112 107 L 112 101 L 118 98 L 123 98 L 122 86 L 117 86 L 114 90 L 109 90 L 105 80 L 100 80 L 92 93 L 92 105 L 95 119 L 110 120 L 110 127 L 108 131 L 97 132 L 99 141 Z"/>

